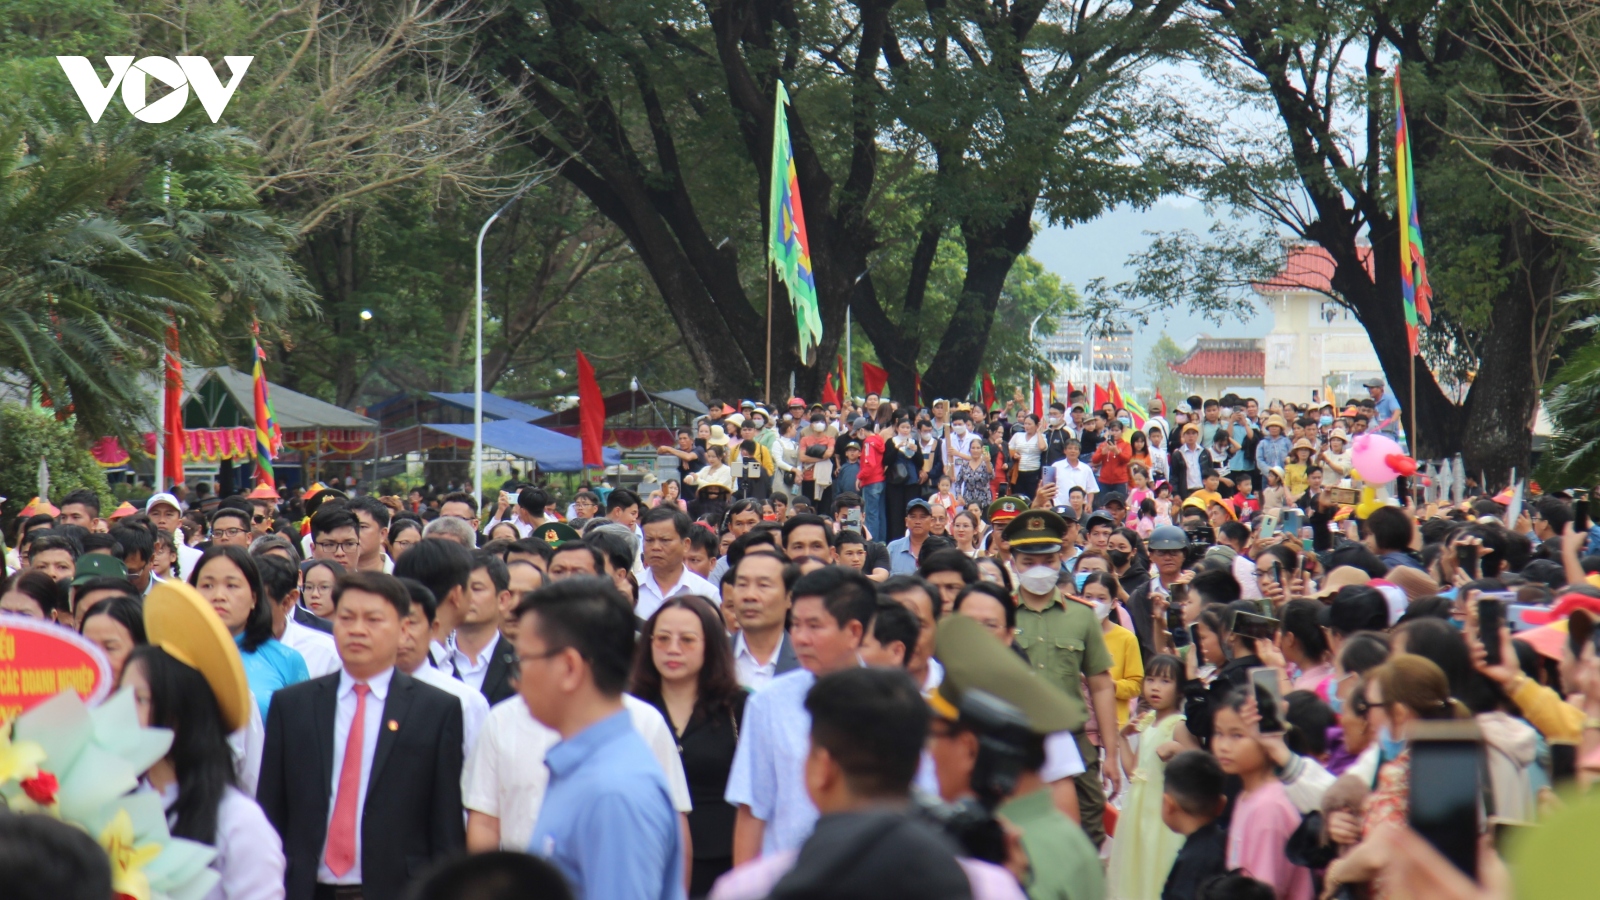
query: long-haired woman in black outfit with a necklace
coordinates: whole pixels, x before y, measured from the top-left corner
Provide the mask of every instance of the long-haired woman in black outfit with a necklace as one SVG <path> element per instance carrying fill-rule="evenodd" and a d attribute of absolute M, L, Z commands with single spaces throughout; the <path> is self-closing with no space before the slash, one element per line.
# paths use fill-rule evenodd
<path fill-rule="evenodd" d="M 723 793 L 747 697 L 734 676 L 722 615 L 710 601 L 680 594 L 661 604 L 645 623 L 629 693 L 661 709 L 677 737 L 694 802 L 690 897 L 704 897 L 733 868 L 734 807 Z"/>

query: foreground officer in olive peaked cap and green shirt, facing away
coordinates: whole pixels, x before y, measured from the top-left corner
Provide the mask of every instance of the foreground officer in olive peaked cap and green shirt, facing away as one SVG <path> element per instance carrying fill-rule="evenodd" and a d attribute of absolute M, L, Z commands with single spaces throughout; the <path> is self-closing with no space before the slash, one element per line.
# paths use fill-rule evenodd
<path fill-rule="evenodd" d="M 1053 753 L 1053 746 L 1061 746 L 1056 735 L 1070 735 L 1083 727 L 1082 700 L 1074 703 L 1080 695 L 1037 677 L 974 618 L 946 618 L 939 625 L 938 645 L 950 671 L 950 677 L 928 698 L 933 711 L 928 754 L 939 798 L 954 802 L 987 793 L 986 799 L 1000 801 L 995 815 L 1022 834 L 1029 897 L 1104 897 L 1099 854 L 1085 830 L 1056 807 L 1050 786 L 1056 773 L 1051 769 L 1082 769 L 1082 759 L 1070 757 L 1072 741 L 1066 745 L 1066 757 Z M 979 706 L 989 714 L 978 716 Z M 992 798 L 994 785 L 984 780 L 974 783 L 974 777 L 982 778 L 982 738 L 1003 738 L 1026 748 L 1016 783 L 1000 798 Z"/>

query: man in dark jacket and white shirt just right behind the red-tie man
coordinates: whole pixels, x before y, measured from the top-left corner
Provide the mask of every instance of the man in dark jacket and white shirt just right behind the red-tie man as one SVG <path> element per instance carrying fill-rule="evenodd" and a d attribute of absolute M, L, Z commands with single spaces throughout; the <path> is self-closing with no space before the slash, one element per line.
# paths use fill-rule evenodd
<path fill-rule="evenodd" d="M 483 692 L 493 706 L 517 693 L 517 685 L 512 684 L 517 649 L 501 636 L 501 623 L 515 609 L 517 599 L 510 593 L 510 572 L 501 557 L 483 551 L 472 554 L 466 601 L 450 653 L 440 668 Z"/>

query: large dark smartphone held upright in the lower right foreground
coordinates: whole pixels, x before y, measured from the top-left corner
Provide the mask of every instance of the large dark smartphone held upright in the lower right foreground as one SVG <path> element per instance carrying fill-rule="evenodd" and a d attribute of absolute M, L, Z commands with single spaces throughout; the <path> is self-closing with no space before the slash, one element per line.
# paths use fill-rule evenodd
<path fill-rule="evenodd" d="M 1474 881 L 1482 757 L 1475 740 L 1411 740 L 1411 828 Z"/>

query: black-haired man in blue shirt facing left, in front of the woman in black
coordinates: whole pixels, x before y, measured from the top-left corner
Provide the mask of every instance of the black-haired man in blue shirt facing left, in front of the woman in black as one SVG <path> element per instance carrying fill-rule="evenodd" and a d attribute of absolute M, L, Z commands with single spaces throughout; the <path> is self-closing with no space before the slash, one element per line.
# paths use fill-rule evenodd
<path fill-rule="evenodd" d="M 578 900 L 683 900 L 683 836 L 666 773 L 622 706 L 634 610 L 610 580 L 578 577 L 517 607 L 517 690 L 562 741 L 528 852 Z"/>

